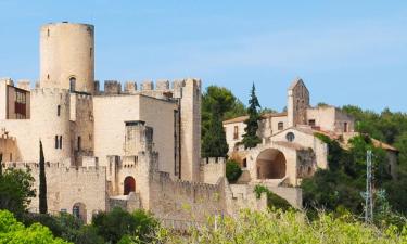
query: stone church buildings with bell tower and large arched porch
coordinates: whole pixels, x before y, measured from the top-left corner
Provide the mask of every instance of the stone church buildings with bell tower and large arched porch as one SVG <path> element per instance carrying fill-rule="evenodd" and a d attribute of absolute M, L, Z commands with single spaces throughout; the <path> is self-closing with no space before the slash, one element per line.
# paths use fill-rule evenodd
<path fill-rule="evenodd" d="M 328 146 L 315 133 L 341 139 L 343 146 L 358 134 L 352 116 L 334 106 L 311 107 L 309 101 L 304 81 L 295 79 L 288 89 L 287 112 L 262 115 L 257 134 L 263 143 L 252 150 L 241 145 L 247 116 L 224 121 L 229 155 L 243 168 L 240 183 L 263 183 L 275 189 L 298 187 L 318 168 L 328 168 Z M 397 150 L 376 140 L 374 143 L 386 150 L 394 169 Z M 290 198 L 284 192 L 280 195 Z"/>

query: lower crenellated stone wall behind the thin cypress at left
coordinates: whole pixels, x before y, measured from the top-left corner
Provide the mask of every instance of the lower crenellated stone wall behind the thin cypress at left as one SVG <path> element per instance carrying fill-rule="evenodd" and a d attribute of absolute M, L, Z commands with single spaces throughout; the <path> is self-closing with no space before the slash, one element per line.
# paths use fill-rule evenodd
<path fill-rule="evenodd" d="M 35 178 L 34 188 L 37 197 L 33 198 L 29 208 L 37 211 L 39 166 L 37 163 L 7 163 L 5 168 L 30 169 Z M 87 222 L 92 214 L 106 210 L 106 181 L 104 167 L 66 167 L 62 164 L 46 164 L 48 209 L 52 213 L 72 214 L 75 204 L 86 206 Z"/>

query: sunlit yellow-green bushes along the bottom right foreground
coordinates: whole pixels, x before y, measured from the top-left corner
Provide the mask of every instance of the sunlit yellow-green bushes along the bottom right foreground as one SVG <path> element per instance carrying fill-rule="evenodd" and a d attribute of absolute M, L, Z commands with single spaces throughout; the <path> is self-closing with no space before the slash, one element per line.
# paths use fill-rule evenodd
<path fill-rule="evenodd" d="M 215 224 L 216 222 L 216 224 Z M 352 216 L 335 218 L 332 215 L 319 214 L 319 218 L 309 221 L 300 211 L 242 211 L 238 217 L 212 219 L 204 227 L 193 229 L 191 235 L 169 234 L 165 243 L 202 243 L 202 244 L 268 244 L 268 243 L 406 243 L 407 231 L 402 234 L 394 228 L 379 230 L 366 226 Z"/>

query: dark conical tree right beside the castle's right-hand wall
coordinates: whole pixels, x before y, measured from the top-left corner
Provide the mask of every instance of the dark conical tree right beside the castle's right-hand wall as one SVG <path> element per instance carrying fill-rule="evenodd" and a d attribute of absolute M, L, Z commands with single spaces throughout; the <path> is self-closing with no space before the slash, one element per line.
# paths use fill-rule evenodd
<path fill-rule="evenodd" d="M 224 124 L 217 106 L 212 108 L 213 115 L 209 121 L 208 131 L 203 137 L 203 157 L 226 157 L 229 151 L 224 131 Z"/>

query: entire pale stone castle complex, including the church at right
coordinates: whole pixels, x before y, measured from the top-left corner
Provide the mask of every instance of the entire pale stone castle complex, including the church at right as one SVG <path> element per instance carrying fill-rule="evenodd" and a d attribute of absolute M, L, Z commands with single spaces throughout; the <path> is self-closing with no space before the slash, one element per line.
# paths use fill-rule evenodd
<path fill-rule="evenodd" d="M 89 222 L 98 211 L 143 208 L 161 219 L 203 220 L 241 208 L 266 209 L 257 183 L 301 208 L 301 180 L 328 167 L 328 147 L 314 136 L 352 138 L 354 119 L 331 106 L 310 107 L 301 79 L 288 110 L 266 114 L 253 150 L 239 145 L 245 117 L 224 121 L 230 156 L 243 168 L 225 178 L 225 158 L 201 159 L 199 79 L 94 80 L 92 25 L 51 23 L 40 29 L 40 78 L 0 80 L 1 167 L 29 168 L 38 189 L 39 141 L 47 160 L 48 206 Z M 381 144 L 395 165 L 396 150 Z M 31 202 L 36 211 L 38 198 Z"/>

